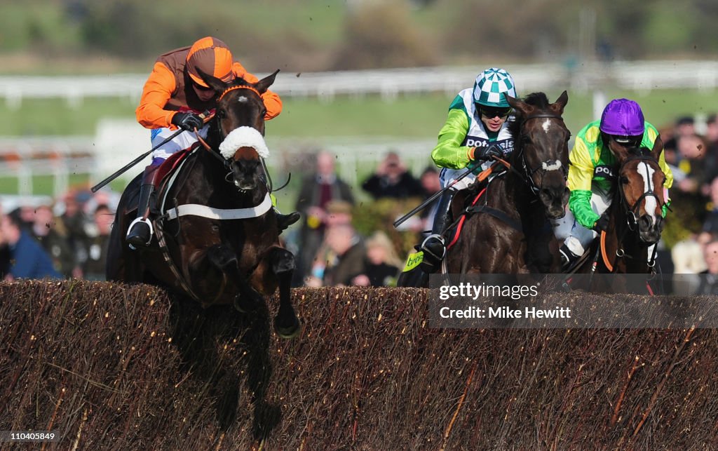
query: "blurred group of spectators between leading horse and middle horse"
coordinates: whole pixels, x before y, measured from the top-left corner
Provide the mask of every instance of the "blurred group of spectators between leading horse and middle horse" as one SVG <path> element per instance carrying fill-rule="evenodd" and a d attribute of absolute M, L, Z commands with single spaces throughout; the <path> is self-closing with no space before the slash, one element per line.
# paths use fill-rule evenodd
<path fill-rule="evenodd" d="M 427 167 L 415 177 L 396 152 L 388 152 L 373 174 L 361 184 L 373 201 L 416 200 L 441 189 L 439 172 Z M 363 236 L 355 228 L 353 189 L 335 168 L 335 156 L 320 152 L 312 174 L 302 180 L 296 209 L 302 213 L 297 243 L 294 285 L 393 286 L 403 266 L 402 248 L 390 238 L 391 231 L 376 230 Z M 406 230 L 423 233 L 431 228 L 432 209 L 412 218 Z"/>

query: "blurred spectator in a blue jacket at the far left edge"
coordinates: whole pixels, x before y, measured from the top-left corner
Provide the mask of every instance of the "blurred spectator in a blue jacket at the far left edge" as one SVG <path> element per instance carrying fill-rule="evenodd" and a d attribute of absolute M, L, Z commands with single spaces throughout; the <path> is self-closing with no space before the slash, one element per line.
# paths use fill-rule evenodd
<path fill-rule="evenodd" d="M 6 280 L 62 278 L 52 266 L 50 256 L 29 233 L 22 230 L 22 224 L 13 215 L 2 216 L 0 234 L 3 243 L 9 246 L 11 254 L 11 265 L 8 274 L 5 275 Z"/>

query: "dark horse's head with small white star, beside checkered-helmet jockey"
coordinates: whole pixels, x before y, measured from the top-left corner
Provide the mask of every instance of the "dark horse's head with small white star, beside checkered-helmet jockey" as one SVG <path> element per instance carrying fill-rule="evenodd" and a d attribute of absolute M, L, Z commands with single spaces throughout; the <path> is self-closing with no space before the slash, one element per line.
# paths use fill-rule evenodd
<path fill-rule="evenodd" d="M 549 103 L 544 93 L 529 94 L 523 101 L 504 96 L 517 112 L 512 125 L 513 161 L 521 162 L 526 182 L 544 204 L 546 215 L 562 218 L 569 202 L 566 178 L 571 133 L 561 114 L 569 96 L 564 91 L 554 103 Z"/>

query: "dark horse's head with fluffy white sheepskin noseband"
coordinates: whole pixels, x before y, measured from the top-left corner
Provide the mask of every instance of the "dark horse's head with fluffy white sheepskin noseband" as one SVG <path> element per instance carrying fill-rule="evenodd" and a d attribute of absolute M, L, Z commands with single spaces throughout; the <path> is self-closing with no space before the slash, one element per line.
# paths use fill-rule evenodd
<path fill-rule="evenodd" d="M 279 70 L 257 83 L 239 77 L 225 83 L 202 70 L 197 69 L 197 73 L 218 95 L 215 121 L 219 149 L 230 162 L 234 184 L 242 191 L 255 190 L 260 184 L 259 157 L 269 157 L 264 142 L 266 107 L 261 95 L 274 83 Z"/>

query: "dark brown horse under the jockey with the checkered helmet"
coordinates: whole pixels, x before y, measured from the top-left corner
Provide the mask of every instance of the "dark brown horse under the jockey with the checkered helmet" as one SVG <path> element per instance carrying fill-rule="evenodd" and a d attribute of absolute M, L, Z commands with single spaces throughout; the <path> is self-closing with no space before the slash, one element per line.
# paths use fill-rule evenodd
<path fill-rule="evenodd" d="M 474 205 L 467 207 L 476 190 L 454 197 L 454 218 L 465 212 L 467 217 L 447 251 L 449 274 L 560 271 L 559 241 L 550 220 L 564 216 L 569 199 L 570 133 L 561 118 L 568 95 L 564 91 L 554 103 L 544 93 L 532 93 L 523 101 L 507 98 L 516 111 L 510 170 L 493 178 Z"/>

